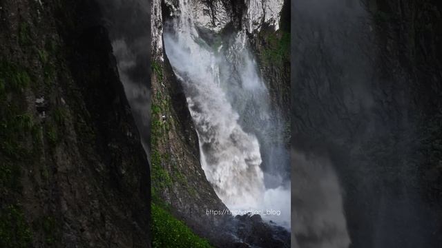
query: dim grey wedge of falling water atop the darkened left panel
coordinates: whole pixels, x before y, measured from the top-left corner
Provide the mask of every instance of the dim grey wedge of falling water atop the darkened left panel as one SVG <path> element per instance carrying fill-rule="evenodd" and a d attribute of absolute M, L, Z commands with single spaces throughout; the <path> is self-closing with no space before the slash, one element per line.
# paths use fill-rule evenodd
<path fill-rule="evenodd" d="M 120 80 L 131 105 L 142 145 L 149 154 L 151 126 L 151 3 L 99 0 Z"/>

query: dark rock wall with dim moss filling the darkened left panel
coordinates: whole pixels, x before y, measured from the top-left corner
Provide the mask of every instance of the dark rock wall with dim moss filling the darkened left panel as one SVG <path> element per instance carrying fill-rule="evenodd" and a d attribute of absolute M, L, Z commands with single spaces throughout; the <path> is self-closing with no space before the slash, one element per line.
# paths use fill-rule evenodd
<path fill-rule="evenodd" d="M 148 162 L 99 8 L 0 6 L 0 246 L 150 247 Z"/>

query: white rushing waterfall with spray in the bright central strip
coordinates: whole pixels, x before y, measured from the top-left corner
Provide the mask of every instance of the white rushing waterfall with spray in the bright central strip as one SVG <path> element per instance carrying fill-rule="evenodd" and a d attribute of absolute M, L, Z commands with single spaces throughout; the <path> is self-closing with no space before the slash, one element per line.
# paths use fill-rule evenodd
<path fill-rule="evenodd" d="M 191 5 L 179 1 L 179 14 L 164 31 L 164 48 L 184 85 L 202 169 L 231 211 L 263 211 L 263 218 L 289 227 L 290 185 L 281 180 L 266 189 L 258 141 L 258 136 L 282 135 L 282 125 L 271 118 L 269 93 L 247 36 L 238 32 L 218 45 L 207 44 L 195 27 Z M 280 215 L 266 215 L 267 210 Z"/>

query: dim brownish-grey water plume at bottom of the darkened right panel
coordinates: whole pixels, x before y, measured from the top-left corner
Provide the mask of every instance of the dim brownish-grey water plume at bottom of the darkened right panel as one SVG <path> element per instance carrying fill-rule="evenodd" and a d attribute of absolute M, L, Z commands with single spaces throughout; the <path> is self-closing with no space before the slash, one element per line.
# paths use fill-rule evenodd
<path fill-rule="evenodd" d="M 348 247 L 342 189 L 329 159 L 292 150 L 291 163 L 293 247 Z"/>

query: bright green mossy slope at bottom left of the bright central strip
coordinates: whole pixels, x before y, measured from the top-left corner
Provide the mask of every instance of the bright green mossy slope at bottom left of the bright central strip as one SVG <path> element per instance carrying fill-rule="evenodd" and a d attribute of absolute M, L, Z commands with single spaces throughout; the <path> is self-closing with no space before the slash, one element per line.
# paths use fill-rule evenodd
<path fill-rule="evenodd" d="M 155 203 L 151 205 L 151 216 L 153 248 L 211 247 L 207 240 L 194 234 L 182 221 Z"/>

